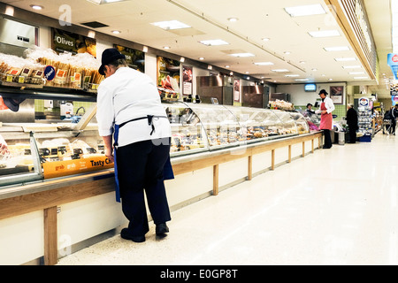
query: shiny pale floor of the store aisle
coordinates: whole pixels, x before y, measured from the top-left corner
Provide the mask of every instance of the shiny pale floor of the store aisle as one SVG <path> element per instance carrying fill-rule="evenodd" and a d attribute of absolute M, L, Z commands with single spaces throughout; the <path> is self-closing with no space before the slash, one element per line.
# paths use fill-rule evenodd
<path fill-rule="evenodd" d="M 398 264 L 398 137 L 334 144 L 172 213 L 170 233 L 119 234 L 63 264 Z M 395 154 L 395 156 L 394 156 Z"/>

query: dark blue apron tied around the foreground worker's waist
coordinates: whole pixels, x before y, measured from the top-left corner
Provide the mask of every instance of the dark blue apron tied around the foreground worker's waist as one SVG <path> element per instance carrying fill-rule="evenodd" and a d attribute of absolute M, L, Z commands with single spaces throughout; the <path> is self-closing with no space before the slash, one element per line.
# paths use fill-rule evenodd
<path fill-rule="evenodd" d="M 149 121 L 149 126 L 152 126 L 152 132 L 150 134 L 153 134 L 155 131 L 155 127 L 152 124 L 152 118 L 153 116 L 148 116 L 148 121 Z M 141 118 L 140 118 L 141 119 Z M 147 117 L 142 118 L 142 119 L 147 119 Z M 134 121 L 137 119 L 133 119 L 131 121 Z M 113 133 L 113 140 L 114 140 L 114 147 L 113 147 L 113 159 L 114 159 L 114 169 L 115 169 L 115 191 L 116 191 L 116 201 L 120 203 L 120 188 L 119 188 L 119 178 L 118 178 L 118 163 L 116 161 L 116 149 L 118 147 L 118 141 L 119 141 L 119 128 L 120 126 L 126 125 L 126 123 L 129 123 L 131 121 L 127 121 L 121 125 L 115 125 L 115 132 Z M 164 180 L 172 180 L 174 179 L 174 172 L 172 172 L 172 163 L 170 162 L 170 156 L 167 158 L 167 161 L 165 163 L 165 167 L 163 170 L 163 179 Z"/>

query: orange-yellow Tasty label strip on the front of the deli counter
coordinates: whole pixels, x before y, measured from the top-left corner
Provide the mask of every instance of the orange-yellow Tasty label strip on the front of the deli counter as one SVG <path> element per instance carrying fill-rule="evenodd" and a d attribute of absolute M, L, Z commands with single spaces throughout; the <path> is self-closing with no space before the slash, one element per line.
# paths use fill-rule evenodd
<path fill-rule="evenodd" d="M 108 157 L 88 157 L 65 161 L 51 161 L 42 164 L 44 179 L 69 176 L 113 168 Z"/>

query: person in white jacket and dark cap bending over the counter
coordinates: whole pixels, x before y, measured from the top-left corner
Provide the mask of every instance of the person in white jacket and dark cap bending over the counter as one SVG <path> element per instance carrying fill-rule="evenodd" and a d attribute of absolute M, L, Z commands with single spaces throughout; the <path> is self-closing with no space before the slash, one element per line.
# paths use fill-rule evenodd
<path fill-rule="evenodd" d="M 129 220 L 120 236 L 145 241 L 149 224 L 144 189 L 156 233 L 164 236 L 169 232 L 165 223 L 171 220 L 164 180 L 165 175 L 173 178 L 172 133 L 157 86 L 148 75 L 129 68 L 126 57 L 116 49 L 103 51 L 99 73 L 105 80 L 97 94 L 98 132 L 106 157 L 115 162 L 117 201 L 121 198 Z"/>

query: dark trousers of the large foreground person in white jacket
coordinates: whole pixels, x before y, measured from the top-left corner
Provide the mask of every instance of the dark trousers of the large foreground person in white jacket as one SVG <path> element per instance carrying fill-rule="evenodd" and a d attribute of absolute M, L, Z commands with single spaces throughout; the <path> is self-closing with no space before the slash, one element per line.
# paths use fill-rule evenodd
<path fill-rule="evenodd" d="M 169 138 L 134 142 L 116 150 L 122 210 L 134 236 L 143 236 L 149 231 L 144 190 L 154 223 L 172 219 L 163 178 L 169 154 Z"/>

